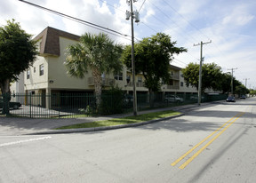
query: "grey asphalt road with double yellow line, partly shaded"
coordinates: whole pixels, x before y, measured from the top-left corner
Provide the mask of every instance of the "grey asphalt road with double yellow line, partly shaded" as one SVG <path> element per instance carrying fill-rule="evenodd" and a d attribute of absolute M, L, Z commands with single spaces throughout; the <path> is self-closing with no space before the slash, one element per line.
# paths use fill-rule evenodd
<path fill-rule="evenodd" d="M 0 136 L 0 182 L 256 182 L 256 99 L 113 131 Z"/>

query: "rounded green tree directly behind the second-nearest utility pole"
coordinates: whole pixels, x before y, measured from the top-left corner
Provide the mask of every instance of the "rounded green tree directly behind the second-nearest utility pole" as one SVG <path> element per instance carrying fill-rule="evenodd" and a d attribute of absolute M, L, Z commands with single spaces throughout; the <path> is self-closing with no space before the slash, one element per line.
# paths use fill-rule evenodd
<path fill-rule="evenodd" d="M 198 91 L 199 83 L 199 64 L 189 63 L 186 68 L 182 69 L 182 74 L 186 85 L 189 84 L 193 87 L 196 87 Z M 215 63 L 204 64 L 202 66 L 202 92 L 205 89 L 212 89 L 213 91 L 222 90 L 222 73 L 221 68 Z"/>

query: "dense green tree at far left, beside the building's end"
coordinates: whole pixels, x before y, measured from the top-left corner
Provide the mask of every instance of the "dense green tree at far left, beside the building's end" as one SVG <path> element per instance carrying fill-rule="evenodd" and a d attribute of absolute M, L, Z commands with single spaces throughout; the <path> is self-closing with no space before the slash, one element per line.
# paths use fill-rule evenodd
<path fill-rule="evenodd" d="M 10 94 L 10 83 L 36 60 L 36 42 L 31 37 L 15 20 L 7 20 L 7 25 L 0 27 L 0 87 L 4 98 Z M 4 100 L 7 106 L 3 113 L 8 114 L 10 98 Z"/>

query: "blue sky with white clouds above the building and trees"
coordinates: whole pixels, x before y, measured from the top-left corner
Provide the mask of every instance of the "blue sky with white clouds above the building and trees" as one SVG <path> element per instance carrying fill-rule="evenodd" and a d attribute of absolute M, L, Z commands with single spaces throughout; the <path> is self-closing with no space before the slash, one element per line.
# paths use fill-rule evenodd
<path fill-rule="evenodd" d="M 117 33 L 109 34 L 113 40 L 131 44 L 131 20 L 125 20 L 125 12 L 131 11 L 131 6 L 126 0 L 27 1 L 115 30 Z M 204 63 L 216 63 L 223 73 L 234 68 L 233 76 L 238 81 L 256 89 L 255 0 L 136 0 L 132 4 L 133 11 L 140 12 L 140 22 L 134 22 L 135 42 L 158 32 L 171 36 L 176 46 L 188 49 L 174 55 L 172 65 L 180 68 L 190 62 L 199 64 L 200 46 L 196 44 L 203 42 Z M 12 19 L 33 36 L 48 26 L 78 36 L 102 32 L 19 0 L 0 0 L 0 26 Z"/>

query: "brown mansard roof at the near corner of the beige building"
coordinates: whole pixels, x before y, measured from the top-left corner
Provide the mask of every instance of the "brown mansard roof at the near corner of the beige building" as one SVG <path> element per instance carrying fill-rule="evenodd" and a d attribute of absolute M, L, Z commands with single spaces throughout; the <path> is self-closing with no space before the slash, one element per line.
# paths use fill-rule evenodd
<path fill-rule="evenodd" d="M 60 56 L 60 36 L 76 41 L 80 38 L 80 36 L 59 29 L 47 27 L 34 38 L 36 41 L 42 39 L 39 49 L 40 54 Z"/>

